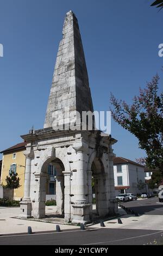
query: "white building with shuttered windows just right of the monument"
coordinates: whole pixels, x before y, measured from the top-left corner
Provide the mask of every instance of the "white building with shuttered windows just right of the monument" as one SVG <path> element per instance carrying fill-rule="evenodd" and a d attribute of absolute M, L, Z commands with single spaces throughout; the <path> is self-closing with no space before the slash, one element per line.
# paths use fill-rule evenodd
<path fill-rule="evenodd" d="M 143 191 L 137 188 L 140 180 L 145 182 L 145 167 L 124 157 L 114 159 L 114 180 L 116 196 L 119 193 L 146 192 L 146 187 Z"/>

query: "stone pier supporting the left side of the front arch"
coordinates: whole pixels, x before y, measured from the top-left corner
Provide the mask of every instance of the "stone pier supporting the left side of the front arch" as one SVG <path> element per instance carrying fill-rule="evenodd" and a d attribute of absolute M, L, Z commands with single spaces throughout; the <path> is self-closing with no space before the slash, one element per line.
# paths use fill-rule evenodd
<path fill-rule="evenodd" d="M 34 218 L 45 218 L 46 182 L 46 173 L 35 173 L 35 198 L 32 200 Z"/>

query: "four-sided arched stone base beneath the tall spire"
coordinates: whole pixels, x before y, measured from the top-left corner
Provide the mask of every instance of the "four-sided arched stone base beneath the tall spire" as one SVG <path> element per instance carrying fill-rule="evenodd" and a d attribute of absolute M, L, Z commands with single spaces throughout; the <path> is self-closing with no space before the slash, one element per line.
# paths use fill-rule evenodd
<path fill-rule="evenodd" d="M 88 223 L 92 218 L 92 163 L 96 170 L 99 217 L 116 214 L 111 137 L 94 131 L 39 130 L 22 136 L 27 141 L 24 198 L 21 217 L 45 217 L 46 166 L 59 164 L 57 174 L 58 212 L 65 222 Z"/>

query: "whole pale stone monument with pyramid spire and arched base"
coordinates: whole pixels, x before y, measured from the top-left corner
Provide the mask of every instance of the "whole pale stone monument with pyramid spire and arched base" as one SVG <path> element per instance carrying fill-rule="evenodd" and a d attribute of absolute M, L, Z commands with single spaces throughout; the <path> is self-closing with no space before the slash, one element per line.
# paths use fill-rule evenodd
<path fill-rule="evenodd" d="M 53 183 L 56 187 L 57 213 L 64 217 L 66 223 L 85 224 L 94 217 L 92 176 L 96 216 L 117 213 L 113 169 L 115 155 L 112 150 L 116 140 L 111 136 L 100 136 L 97 130 L 53 129 L 56 113 L 60 113 L 58 116 L 62 120 L 69 112 L 93 112 L 82 39 L 72 11 L 66 14 L 62 34 L 44 127 L 21 136 L 27 145 L 20 217 L 46 217 L 46 196 L 51 196 L 47 187 Z M 57 171 L 57 176 L 52 175 L 50 179 L 49 164 Z"/>

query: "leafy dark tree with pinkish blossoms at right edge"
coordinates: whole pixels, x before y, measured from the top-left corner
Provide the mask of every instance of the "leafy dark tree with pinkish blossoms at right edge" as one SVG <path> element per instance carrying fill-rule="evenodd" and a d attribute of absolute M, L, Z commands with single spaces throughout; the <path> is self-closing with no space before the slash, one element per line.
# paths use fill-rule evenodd
<path fill-rule="evenodd" d="M 146 151 L 146 166 L 163 173 L 163 93 L 158 95 L 159 76 L 153 77 L 129 106 L 111 94 L 112 117 L 124 129 L 139 139 L 139 147 Z"/>

